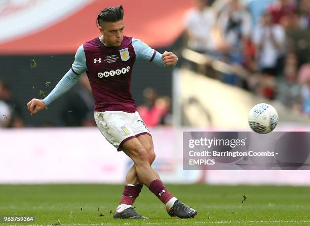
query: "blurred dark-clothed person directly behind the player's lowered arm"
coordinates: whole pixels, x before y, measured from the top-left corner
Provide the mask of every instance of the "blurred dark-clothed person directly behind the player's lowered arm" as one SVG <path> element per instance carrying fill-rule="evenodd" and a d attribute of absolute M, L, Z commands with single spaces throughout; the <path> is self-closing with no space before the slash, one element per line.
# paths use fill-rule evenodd
<path fill-rule="evenodd" d="M 95 126 L 94 98 L 86 74 L 79 79 L 80 86 L 69 92 L 62 110 L 66 126 Z"/>

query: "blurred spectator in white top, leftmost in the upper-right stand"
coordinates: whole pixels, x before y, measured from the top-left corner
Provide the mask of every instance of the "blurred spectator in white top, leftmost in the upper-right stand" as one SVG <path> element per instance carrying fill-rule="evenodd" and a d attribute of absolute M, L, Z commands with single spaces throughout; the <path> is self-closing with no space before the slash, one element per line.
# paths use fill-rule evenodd
<path fill-rule="evenodd" d="M 213 52 L 215 40 L 212 31 L 216 21 L 215 11 L 209 7 L 210 0 L 195 0 L 195 8 L 185 16 L 187 48 L 199 53 Z"/>

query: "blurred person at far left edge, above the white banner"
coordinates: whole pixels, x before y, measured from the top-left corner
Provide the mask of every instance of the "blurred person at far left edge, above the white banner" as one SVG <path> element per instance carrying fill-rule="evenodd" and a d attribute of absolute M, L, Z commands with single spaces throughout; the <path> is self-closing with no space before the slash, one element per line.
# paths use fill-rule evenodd
<path fill-rule="evenodd" d="M 13 92 L 10 89 L 9 83 L 0 80 L 0 101 L 3 101 L 3 109 L 5 104 L 9 107 L 10 117 L 6 118 L 6 127 L 24 127 L 22 108 L 19 102 L 14 98 Z M 7 112 L 7 111 L 6 111 Z M 3 117 L 3 115 L 0 115 Z"/>

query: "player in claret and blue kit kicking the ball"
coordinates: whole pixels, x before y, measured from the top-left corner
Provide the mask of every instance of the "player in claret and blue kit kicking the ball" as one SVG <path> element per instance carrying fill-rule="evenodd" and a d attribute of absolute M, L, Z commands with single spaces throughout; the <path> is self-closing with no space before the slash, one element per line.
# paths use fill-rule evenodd
<path fill-rule="evenodd" d="M 197 211 L 181 203 L 151 168 L 155 153 L 150 132 L 136 111 L 130 91 L 131 73 L 136 59 L 148 60 L 161 67 L 174 67 L 178 58 L 172 52 L 161 54 L 139 39 L 123 36 L 125 23 L 122 6 L 108 7 L 97 17 L 101 36 L 81 45 L 71 69 L 44 99 L 27 104 L 30 115 L 45 109 L 69 90 L 86 72 L 95 98 L 94 118 L 105 137 L 118 151 L 134 162 L 114 218 L 142 218 L 133 208 L 143 184 L 165 205 L 170 216 L 190 218 Z"/>

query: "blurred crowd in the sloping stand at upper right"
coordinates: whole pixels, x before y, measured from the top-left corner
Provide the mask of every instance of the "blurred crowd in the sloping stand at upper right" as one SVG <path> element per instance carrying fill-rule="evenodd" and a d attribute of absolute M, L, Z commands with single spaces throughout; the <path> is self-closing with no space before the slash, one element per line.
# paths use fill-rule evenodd
<path fill-rule="evenodd" d="M 310 116 L 310 0 L 194 3 L 185 16 L 187 48 L 249 74 L 222 73 L 223 82 Z"/>

